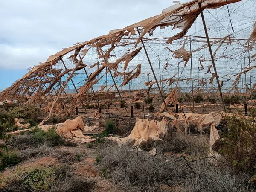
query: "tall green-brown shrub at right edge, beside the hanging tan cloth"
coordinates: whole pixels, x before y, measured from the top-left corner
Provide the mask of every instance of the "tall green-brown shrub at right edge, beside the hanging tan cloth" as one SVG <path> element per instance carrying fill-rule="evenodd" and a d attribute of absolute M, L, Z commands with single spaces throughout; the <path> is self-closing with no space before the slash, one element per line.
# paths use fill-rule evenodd
<path fill-rule="evenodd" d="M 238 169 L 256 171 L 256 130 L 249 119 L 235 116 L 227 118 L 229 134 L 218 149 L 225 159 Z"/>

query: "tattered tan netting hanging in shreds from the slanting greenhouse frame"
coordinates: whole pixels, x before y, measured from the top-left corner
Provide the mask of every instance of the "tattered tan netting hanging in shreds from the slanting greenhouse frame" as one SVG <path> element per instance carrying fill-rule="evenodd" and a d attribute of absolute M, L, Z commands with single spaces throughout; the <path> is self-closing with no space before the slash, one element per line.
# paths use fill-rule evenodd
<path fill-rule="evenodd" d="M 123 101 L 123 94 L 121 91 L 119 91 L 119 87 L 127 85 L 132 79 L 136 79 L 141 74 L 140 63 L 138 63 L 137 66 L 134 67 L 134 69 L 131 71 L 127 71 L 127 67 L 138 53 L 144 52 L 144 54 L 147 55 L 147 49 L 145 48 L 143 42 L 149 42 L 152 40 L 157 41 L 160 38 L 154 36 L 154 31 L 156 29 L 161 30 L 165 27 L 173 26 L 173 29 L 181 30 L 181 32 L 173 35 L 172 37 L 161 38 L 161 41 L 165 41 L 167 46 L 166 50 L 172 52 L 175 55 L 174 58 L 181 59 L 180 62 L 184 62 L 184 67 L 186 67 L 189 59 L 197 50 L 188 51 L 185 49 L 185 43 L 188 43 L 189 39 L 191 41 L 191 36 L 188 37 L 185 35 L 195 20 L 198 18 L 198 16 L 202 15 L 201 11 L 204 11 L 205 9 L 220 8 L 222 6 L 226 6 L 228 4 L 236 3 L 239 1 L 241 0 L 193 0 L 184 4 L 177 3 L 174 6 L 164 9 L 160 15 L 150 17 L 123 29 L 112 30 L 109 32 L 109 34 L 94 38 L 90 41 L 85 41 L 83 43 L 79 42 L 72 47 L 65 48 L 62 51 L 57 52 L 55 55 L 51 55 L 46 62 L 40 63 L 38 66 L 33 67 L 28 73 L 26 73 L 26 75 L 12 84 L 11 87 L 3 90 L 3 92 L 0 94 L 0 99 L 14 100 L 18 104 L 44 104 L 46 108 L 49 109 L 49 115 L 44 119 L 43 122 L 41 122 L 41 124 L 44 124 L 44 122 L 47 121 L 53 113 L 55 113 L 56 108 L 58 105 L 61 105 L 62 102 L 70 102 L 68 113 L 73 113 L 75 111 L 75 106 L 81 105 L 84 109 L 86 109 L 83 102 L 87 97 L 89 97 L 89 90 L 92 90 L 90 93 L 92 95 L 91 98 L 94 97 L 98 105 L 100 94 L 106 95 L 106 99 L 111 99 L 108 98 L 108 93 L 110 93 L 108 90 L 110 90 L 112 87 L 116 88 L 114 97 L 116 96 L 116 93 L 119 93 L 119 97 L 121 101 Z M 201 9 L 199 5 L 201 5 Z M 172 44 L 173 41 L 182 38 L 183 46 L 180 49 L 171 50 L 168 48 L 168 45 Z M 213 53 L 214 56 L 221 45 L 230 44 L 231 42 L 238 42 L 237 39 L 231 38 L 231 35 L 225 36 L 223 38 L 200 38 L 204 39 L 201 41 L 201 43 L 204 45 L 198 47 L 198 50 L 203 48 L 208 50 L 208 48 L 215 45 L 217 46 L 217 49 Z M 255 27 L 250 37 L 243 41 L 245 42 L 243 46 L 246 47 L 243 50 L 243 53 L 247 52 L 248 49 L 253 49 L 254 43 L 256 41 Z M 115 49 L 119 47 L 124 48 L 125 51 L 120 52 L 119 56 L 116 56 Z M 96 62 L 90 63 L 90 59 L 86 58 L 87 54 L 89 53 L 97 55 Z M 255 56 L 256 55 L 251 56 L 251 58 L 253 59 Z M 148 66 L 151 66 L 151 61 L 148 56 L 145 60 L 148 62 Z M 206 61 L 206 59 L 201 57 L 200 64 L 204 61 Z M 70 63 L 71 66 L 73 65 L 71 68 L 70 65 L 68 65 Z M 56 67 L 60 64 L 63 66 L 62 68 Z M 214 67 L 214 58 L 212 58 L 212 64 Z M 94 70 L 93 73 L 88 73 L 89 67 L 87 67 L 87 65 L 90 65 L 90 69 L 94 70 L 95 68 L 96 70 Z M 96 66 L 98 66 L 98 68 L 96 68 Z M 120 72 L 120 70 L 118 70 L 119 66 L 122 66 L 123 71 Z M 203 67 L 204 66 L 202 66 L 202 68 Z M 216 71 L 212 73 L 210 71 L 211 67 L 212 65 L 208 66 L 207 73 L 211 73 L 211 82 L 214 80 L 214 78 L 217 78 L 218 90 L 216 87 L 210 87 L 209 90 L 217 90 L 217 92 L 219 92 L 221 95 L 221 87 L 223 86 L 224 81 L 218 81 L 218 76 L 215 75 Z M 245 67 L 243 71 L 241 71 L 239 74 L 236 74 L 236 80 L 233 81 L 233 88 L 231 90 L 237 90 L 236 86 L 239 83 L 241 75 L 250 72 L 250 70 L 255 67 L 256 66 Z M 87 79 L 84 79 L 85 83 L 80 88 L 77 88 L 76 84 L 73 82 L 73 78 L 76 76 L 78 71 L 85 73 L 87 77 Z M 151 72 L 154 75 L 153 67 L 151 67 Z M 67 79 L 62 81 L 61 78 L 64 76 L 67 76 Z M 102 87 L 101 91 L 100 89 L 98 89 L 98 91 L 93 90 L 93 86 L 99 83 L 103 76 L 109 76 L 108 78 L 112 79 L 113 84 L 106 84 L 106 86 Z M 116 77 L 122 78 L 121 84 L 119 84 L 119 86 L 117 85 L 115 79 Z M 140 99 L 140 97 L 148 95 L 151 88 L 157 84 L 156 89 L 158 89 L 158 94 L 161 95 L 163 100 L 161 111 L 163 111 L 164 108 L 166 108 L 166 111 L 168 111 L 167 105 L 171 103 L 178 103 L 176 89 L 172 89 L 168 97 L 166 99 L 164 98 L 165 95 L 169 92 L 170 85 L 174 84 L 174 87 L 177 87 L 180 81 L 187 81 L 188 79 L 193 79 L 193 77 L 187 79 L 175 79 L 175 76 L 169 76 L 167 79 L 161 79 L 160 76 L 160 79 L 158 79 L 154 75 L 154 79 L 151 81 L 148 79 L 148 82 L 145 82 L 145 85 L 148 86 L 147 89 L 136 90 L 133 91 L 133 93 L 130 93 L 129 91 L 128 94 L 134 95 L 135 97 L 133 98 L 133 101 L 137 101 Z M 205 79 L 203 78 L 198 78 L 198 81 L 201 84 L 205 83 Z M 73 85 L 73 88 L 76 91 L 75 94 L 69 94 L 65 92 L 65 87 L 70 84 Z M 166 84 L 167 86 L 163 88 L 163 84 Z M 248 90 L 250 90 L 249 94 L 251 95 L 252 90 L 256 88 L 256 84 L 252 86 L 252 83 L 250 82 L 250 86 L 251 87 L 250 89 L 248 88 Z M 105 93 L 103 92 L 104 88 L 107 88 Z M 193 87 L 192 91 L 194 91 Z M 192 93 L 192 95 L 194 96 L 194 93 Z M 111 97 L 111 95 L 109 97 Z"/>

